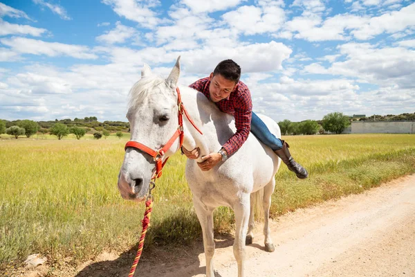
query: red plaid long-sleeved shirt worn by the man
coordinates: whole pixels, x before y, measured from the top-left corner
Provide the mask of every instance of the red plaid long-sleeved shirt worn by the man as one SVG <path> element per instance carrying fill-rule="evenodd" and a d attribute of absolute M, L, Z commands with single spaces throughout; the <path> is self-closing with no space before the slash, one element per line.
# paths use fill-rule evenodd
<path fill-rule="evenodd" d="M 190 84 L 189 87 L 200 91 L 210 100 L 209 85 L 209 77 L 206 77 Z M 246 84 L 239 81 L 230 93 L 228 99 L 220 100 L 219 102 L 215 102 L 215 104 L 221 111 L 226 114 L 231 114 L 235 118 L 237 132 L 222 146 L 228 153 L 228 156 L 230 156 L 241 148 L 246 139 L 248 139 L 252 119 L 252 99 L 250 91 L 246 87 Z"/>

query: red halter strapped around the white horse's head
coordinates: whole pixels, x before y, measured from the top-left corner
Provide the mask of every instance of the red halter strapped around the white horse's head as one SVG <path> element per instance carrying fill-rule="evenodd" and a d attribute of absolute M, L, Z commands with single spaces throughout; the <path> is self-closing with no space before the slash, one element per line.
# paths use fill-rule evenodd
<path fill-rule="evenodd" d="M 177 106 L 178 106 L 178 127 L 177 127 L 176 132 L 174 132 L 172 138 L 169 139 L 169 141 L 167 141 L 167 143 L 163 146 L 163 148 L 160 148 L 159 150 L 155 151 L 137 141 L 128 141 L 124 148 L 124 150 L 127 150 L 127 148 L 136 148 L 138 150 L 146 152 L 151 157 L 153 157 L 154 161 L 156 161 L 156 171 L 154 172 L 153 177 L 151 177 L 151 179 L 155 179 L 161 176 L 161 170 L 163 169 L 163 166 L 169 159 L 167 157 L 167 159 L 165 159 L 165 161 L 163 162 L 164 154 L 165 152 L 167 152 L 167 150 L 169 150 L 169 148 L 172 147 L 174 141 L 176 141 L 177 138 L 180 138 L 180 148 L 183 145 L 183 139 L 184 139 L 183 113 L 185 114 L 187 119 L 190 121 L 190 123 L 192 123 L 193 127 L 196 128 L 196 130 L 198 130 L 199 133 L 203 134 L 201 130 L 198 127 L 196 127 L 192 118 L 190 118 L 189 114 L 187 114 L 185 106 L 183 105 L 183 102 L 181 102 L 180 90 L 178 89 L 178 87 L 176 91 L 177 91 Z"/>

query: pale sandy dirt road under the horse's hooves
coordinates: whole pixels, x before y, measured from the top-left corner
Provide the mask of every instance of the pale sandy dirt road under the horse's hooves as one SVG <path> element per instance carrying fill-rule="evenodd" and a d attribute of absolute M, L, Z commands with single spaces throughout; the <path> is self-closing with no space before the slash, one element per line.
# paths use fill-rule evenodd
<path fill-rule="evenodd" d="M 415 276 L 415 175 L 279 217 L 271 225 L 273 253 L 263 250 L 258 225 L 246 248 L 248 277 Z M 232 243 L 216 241 L 216 277 L 237 276 Z M 120 260 L 133 257 L 103 256 L 76 276 L 127 276 L 129 263 Z M 202 244 L 156 251 L 140 261 L 135 276 L 205 276 Z"/>

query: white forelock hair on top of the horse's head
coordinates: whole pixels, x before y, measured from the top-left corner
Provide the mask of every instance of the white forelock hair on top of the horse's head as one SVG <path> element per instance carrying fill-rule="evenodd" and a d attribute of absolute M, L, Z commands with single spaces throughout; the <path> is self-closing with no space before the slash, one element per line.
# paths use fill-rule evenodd
<path fill-rule="evenodd" d="M 160 84 L 165 87 L 160 87 Z M 165 78 L 158 75 L 149 75 L 148 77 L 141 78 L 136 82 L 129 91 L 129 103 L 128 109 L 136 109 L 147 96 L 149 96 L 150 91 L 158 90 L 161 93 L 166 93 L 168 87 Z"/>

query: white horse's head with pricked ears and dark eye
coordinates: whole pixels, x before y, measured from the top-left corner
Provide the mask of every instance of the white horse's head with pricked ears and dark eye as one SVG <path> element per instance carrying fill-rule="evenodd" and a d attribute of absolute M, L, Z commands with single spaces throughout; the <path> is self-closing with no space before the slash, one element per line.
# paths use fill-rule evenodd
<path fill-rule="evenodd" d="M 180 57 L 167 79 L 153 75 L 150 67 L 145 64 L 141 79 L 129 92 L 127 118 L 131 141 L 141 143 L 151 150 L 163 148 L 178 128 L 176 85 L 180 74 L 179 60 Z M 176 152 L 178 145 L 177 139 L 165 156 L 169 157 Z M 118 175 L 118 190 L 122 197 L 144 200 L 155 169 L 156 161 L 150 154 L 127 147 Z"/>

